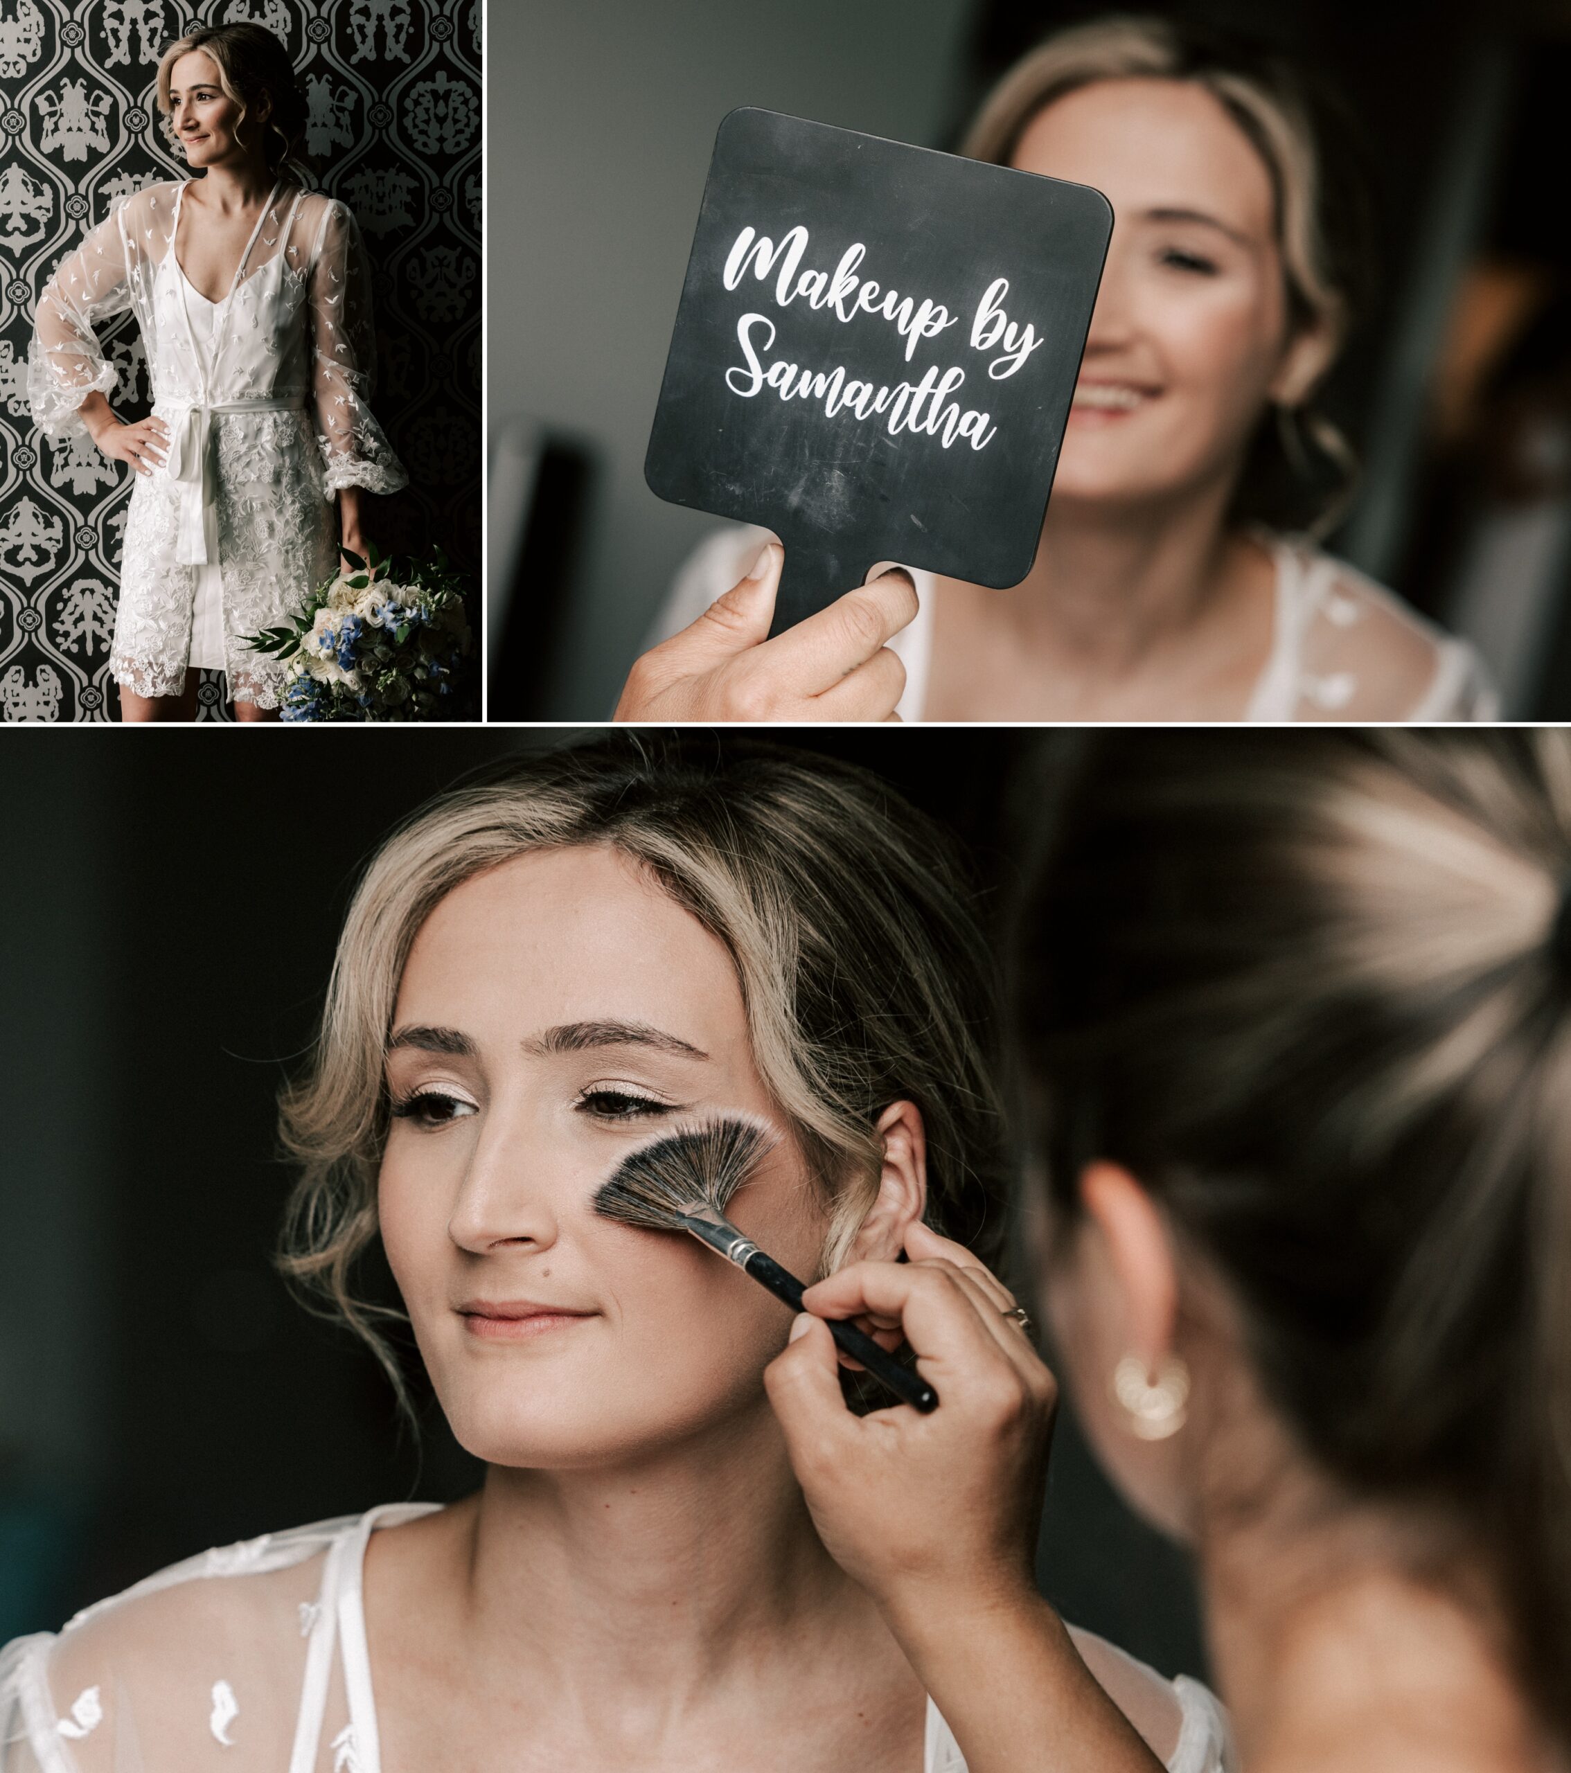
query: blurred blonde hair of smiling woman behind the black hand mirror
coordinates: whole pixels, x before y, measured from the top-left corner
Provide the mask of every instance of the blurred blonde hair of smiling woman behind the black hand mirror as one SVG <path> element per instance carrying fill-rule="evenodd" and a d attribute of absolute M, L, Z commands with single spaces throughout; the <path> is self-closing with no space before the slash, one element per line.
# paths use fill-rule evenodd
<path fill-rule="evenodd" d="M 1055 32 L 982 103 L 961 152 L 1011 165 L 1027 126 L 1101 80 L 1181 80 L 1209 92 L 1266 165 L 1287 323 L 1326 323 L 1340 340 L 1372 300 L 1374 241 L 1351 119 L 1287 55 L 1165 18 L 1103 18 Z M 1358 461 L 1310 394 L 1255 427 L 1232 521 L 1330 532 L 1351 504 Z"/>

